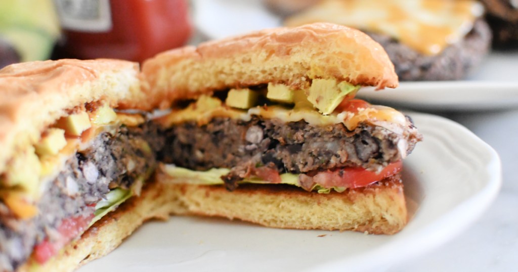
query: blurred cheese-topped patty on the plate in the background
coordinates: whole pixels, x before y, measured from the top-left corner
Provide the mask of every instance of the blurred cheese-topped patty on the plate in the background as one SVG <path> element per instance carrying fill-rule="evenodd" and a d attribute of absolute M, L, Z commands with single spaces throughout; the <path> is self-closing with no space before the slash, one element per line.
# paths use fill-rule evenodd
<path fill-rule="evenodd" d="M 491 43 L 472 0 L 323 0 L 285 20 L 331 22 L 364 31 L 394 63 L 399 80 L 457 80 L 480 65 Z"/>

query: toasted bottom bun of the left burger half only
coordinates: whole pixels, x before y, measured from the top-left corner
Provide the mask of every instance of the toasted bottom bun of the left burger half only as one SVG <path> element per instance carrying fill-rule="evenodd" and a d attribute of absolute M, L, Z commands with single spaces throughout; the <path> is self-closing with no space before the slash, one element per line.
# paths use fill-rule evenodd
<path fill-rule="evenodd" d="M 169 214 L 184 213 L 177 186 L 148 182 L 139 197 L 132 197 L 117 210 L 95 222 L 80 239 L 66 246 L 59 255 L 44 265 L 26 263 L 19 271 L 74 271 L 81 265 L 98 259 L 117 248 L 143 222 L 169 218 Z"/>

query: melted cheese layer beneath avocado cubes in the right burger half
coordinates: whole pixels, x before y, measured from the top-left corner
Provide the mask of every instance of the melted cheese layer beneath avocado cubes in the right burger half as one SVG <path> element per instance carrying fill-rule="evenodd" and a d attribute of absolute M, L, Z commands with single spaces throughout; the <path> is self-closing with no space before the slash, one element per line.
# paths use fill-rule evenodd
<path fill-rule="evenodd" d="M 203 97 L 203 96 L 202 96 Z M 372 124 L 390 122 L 400 126 L 406 125 L 405 116 L 399 111 L 384 107 L 369 105 L 368 108 L 360 108 L 357 113 L 334 112 L 322 115 L 313 108 L 286 108 L 283 106 L 257 106 L 246 110 L 237 110 L 225 106 L 218 98 L 203 97 L 196 103 L 181 110 L 172 110 L 166 116 L 157 119 L 164 127 L 170 127 L 188 121 L 194 121 L 198 125 L 209 123 L 215 117 L 226 117 L 249 121 L 252 116 L 260 116 L 265 119 L 279 119 L 285 123 L 306 121 L 311 125 L 329 125 L 343 123 L 349 130 L 354 130 L 359 123 Z"/>

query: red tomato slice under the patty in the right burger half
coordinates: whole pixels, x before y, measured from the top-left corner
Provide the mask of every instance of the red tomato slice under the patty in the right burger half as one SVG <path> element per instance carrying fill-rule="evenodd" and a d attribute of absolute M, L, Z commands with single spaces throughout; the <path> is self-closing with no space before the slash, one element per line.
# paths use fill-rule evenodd
<path fill-rule="evenodd" d="M 323 188 L 344 187 L 358 188 L 365 187 L 386 177 L 390 177 L 401 171 L 401 161 L 387 165 L 379 173 L 365 170 L 361 167 L 348 167 L 336 170 L 326 170 L 316 173 L 312 181 L 320 184 Z"/>

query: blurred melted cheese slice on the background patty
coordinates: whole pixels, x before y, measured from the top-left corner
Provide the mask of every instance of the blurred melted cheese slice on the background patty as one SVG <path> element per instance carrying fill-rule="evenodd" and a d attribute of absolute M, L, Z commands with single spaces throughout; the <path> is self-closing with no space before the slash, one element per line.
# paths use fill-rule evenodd
<path fill-rule="evenodd" d="M 326 0 L 286 25 L 327 21 L 389 35 L 428 55 L 463 39 L 483 13 L 473 0 Z"/>

